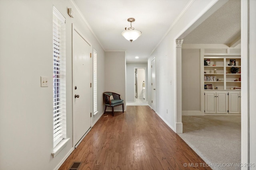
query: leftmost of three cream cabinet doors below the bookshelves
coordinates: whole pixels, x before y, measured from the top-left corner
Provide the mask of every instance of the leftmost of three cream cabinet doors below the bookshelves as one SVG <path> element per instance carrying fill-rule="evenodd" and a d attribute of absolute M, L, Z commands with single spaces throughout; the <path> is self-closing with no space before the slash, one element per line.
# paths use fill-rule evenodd
<path fill-rule="evenodd" d="M 216 113 L 216 100 L 215 92 L 204 93 L 204 112 L 205 113 Z"/>

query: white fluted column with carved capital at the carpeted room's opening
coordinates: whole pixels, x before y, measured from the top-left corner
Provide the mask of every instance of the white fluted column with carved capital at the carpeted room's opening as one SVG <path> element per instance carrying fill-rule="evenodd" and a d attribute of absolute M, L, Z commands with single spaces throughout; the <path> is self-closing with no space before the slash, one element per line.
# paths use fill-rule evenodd
<path fill-rule="evenodd" d="M 176 133 L 182 133 L 182 74 L 181 47 L 183 39 L 176 40 Z"/>

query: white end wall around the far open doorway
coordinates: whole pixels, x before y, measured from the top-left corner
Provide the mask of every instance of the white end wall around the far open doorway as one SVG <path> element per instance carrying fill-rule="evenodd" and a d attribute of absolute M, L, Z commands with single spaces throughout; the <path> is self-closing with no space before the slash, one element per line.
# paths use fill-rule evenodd
<path fill-rule="evenodd" d="M 134 68 L 146 67 L 146 101 L 148 101 L 148 64 L 126 63 L 126 97 L 127 102 L 134 102 Z"/>

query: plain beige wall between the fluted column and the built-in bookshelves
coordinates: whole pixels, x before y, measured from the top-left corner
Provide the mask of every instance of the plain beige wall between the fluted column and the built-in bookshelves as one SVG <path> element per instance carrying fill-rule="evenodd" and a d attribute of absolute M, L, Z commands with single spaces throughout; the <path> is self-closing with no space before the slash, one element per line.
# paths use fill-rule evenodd
<path fill-rule="evenodd" d="M 200 111 L 200 49 L 182 49 L 182 111 Z"/>

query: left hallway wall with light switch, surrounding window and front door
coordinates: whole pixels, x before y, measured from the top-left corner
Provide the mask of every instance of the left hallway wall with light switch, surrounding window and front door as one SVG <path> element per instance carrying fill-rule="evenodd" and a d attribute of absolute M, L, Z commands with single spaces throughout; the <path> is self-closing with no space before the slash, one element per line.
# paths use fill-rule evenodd
<path fill-rule="evenodd" d="M 52 8 L 66 18 L 66 147 L 54 158 Z M 67 14 L 74 10 L 74 18 Z M 72 26 L 97 50 L 98 110 L 103 112 L 104 51 L 68 0 L 0 0 L 0 169 L 52 170 L 72 151 Z M 47 76 L 49 87 L 40 87 Z M 100 113 L 92 118 L 94 123 Z"/>

